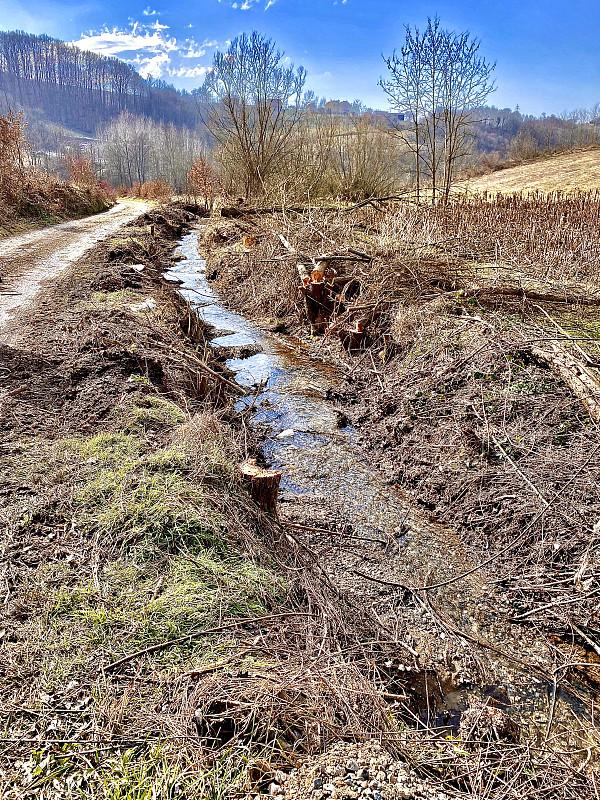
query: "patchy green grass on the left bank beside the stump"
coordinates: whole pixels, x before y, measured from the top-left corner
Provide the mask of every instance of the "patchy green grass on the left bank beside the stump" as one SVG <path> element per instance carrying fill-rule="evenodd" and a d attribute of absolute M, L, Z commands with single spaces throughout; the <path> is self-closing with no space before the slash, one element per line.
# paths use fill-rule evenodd
<path fill-rule="evenodd" d="M 221 510 L 223 496 L 235 506 L 235 448 L 212 415 L 188 419 L 136 392 L 107 422 L 95 436 L 15 451 L 18 480 L 35 467 L 40 487 L 26 512 L 15 505 L 15 530 L 52 524 L 57 533 L 54 557 L 19 589 L 27 652 L 13 681 L 21 692 L 21 669 L 34 706 L 60 698 L 84 709 L 59 720 L 56 736 L 69 743 L 41 745 L 15 781 L 24 798 L 225 798 L 246 780 L 246 750 L 208 765 L 185 722 L 165 728 L 164 715 L 178 713 L 182 674 L 241 645 L 232 631 L 173 640 L 276 611 L 286 587 L 236 546 Z M 101 669 L 156 645 L 164 647 Z M 89 720 L 114 750 L 95 752 Z M 74 757 L 81 750 L 87 760 Z"/>

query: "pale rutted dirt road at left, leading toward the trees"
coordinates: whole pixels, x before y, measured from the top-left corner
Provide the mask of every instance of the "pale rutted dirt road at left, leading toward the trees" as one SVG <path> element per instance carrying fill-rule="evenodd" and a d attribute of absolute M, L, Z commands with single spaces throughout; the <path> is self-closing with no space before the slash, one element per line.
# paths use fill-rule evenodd
<path fill-rule="evenodd" d="M 104 214 L 0 242 L 0 341 L 10 343 L 15 312 L 30 305 L 44 281 L 55 278 L 92 245 L 147 208 L 146 203 L 124 201 Z"/>

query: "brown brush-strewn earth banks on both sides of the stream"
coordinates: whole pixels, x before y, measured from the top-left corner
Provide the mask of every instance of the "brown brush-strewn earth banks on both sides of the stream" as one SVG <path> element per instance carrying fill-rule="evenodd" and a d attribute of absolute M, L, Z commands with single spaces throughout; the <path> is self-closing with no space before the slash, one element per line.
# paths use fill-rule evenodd
<path fill-rule="evenodd" d="M 5 796 L 594 796 L 595 684 L 580 667 L 592 661 L 596 560 L 579 519 L 600 516 L 595 426 L 515 338 L 507 320 L 523 309 L 432 283 L 423 293 L 399 270 L 408 291 L 372 315 L 369 347 L 348 353 L 343 337 L 311 337 L 297 258 L 278 235 L 330 252 L 345 221 L 311 219 L 314 239 L 294 240 L 293 226 L 252 215 L 213 221 L 205 237 L 228 302 L 341 376 L 331 403 L 373 469 L 476 560 L 494 556 L 503 619 L 556 599 L 568 576 L 559 600 L 576 597 L 574 619 L 519 623 L 556 659 L 550 691 L 583 704 L 577 741 L 589 750 L 566 755 L 564 737 L 548 746 L 551 698 L 535 741 L 511 727 L 498 687 L 473 699 L 462 727 L 442 708 L 458 688 L 443 663 L 462 661 L 460 681 L 467 662 L 485 671 L 477 639 L 410 587 L 347 573 L 362 545 L 332 544 L 330 505 L 282 498 L 277 521 L 250 502 L 237 467 L 260 442 L 223 365 L 241 353 L 212 352 L 212 332 L 162 278 L 196 221 L 185 206 L 143 215 L 64 273 L 0 347 Z M 372 224 L 353 220 L 357 249 Z M 539 486 L 566 505 L 536 527 Z M 390 635 L 377 612 L 391 605 L 437 654 L 399 642 L 406 626 Z M 357 749 L 363 739 L 383 753 Z"/>

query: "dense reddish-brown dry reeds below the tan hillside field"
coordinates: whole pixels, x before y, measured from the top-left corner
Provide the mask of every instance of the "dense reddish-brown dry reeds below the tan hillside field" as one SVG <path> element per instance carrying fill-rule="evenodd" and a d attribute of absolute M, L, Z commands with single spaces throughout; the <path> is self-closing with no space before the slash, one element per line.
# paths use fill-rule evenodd
<path fill-rule="evenodd" d="M 376 220 L 374 220 L 376 223 Z M 380 244 L 431 246 L 504 265 L 537 280 L 598 285 L 600 190 L 462 195 L 447 205 L 403 204 L 380 221 Z"/>

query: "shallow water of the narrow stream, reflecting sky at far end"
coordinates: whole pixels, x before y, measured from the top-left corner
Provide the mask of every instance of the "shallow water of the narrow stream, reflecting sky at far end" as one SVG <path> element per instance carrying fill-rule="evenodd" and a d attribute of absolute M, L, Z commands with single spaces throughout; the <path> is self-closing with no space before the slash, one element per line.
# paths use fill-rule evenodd
<path fill-rule="evenodd" d="M 352 427 L 338 427 L 339 416 L 325 400 L 327 389 L 339 380 L 336 371 L 311 360 L 301 342 L 290 343 L 289 339 L 266 333 L 225 308 L 207 281 L 205 261 L 198 254 L 197 233 L 185 236 L 179 249 L 181 260 L 165 277 L 180 282 L 183 297 L 217 331 L 211 344 L 261 349 L 248 358 L 231 359 L 227 366 L 240 385 L 256 389 L 251 397 L 239 402 L 252 403 L 251 423 L 261 425 L 263 430 L 266 426 L 269 431 L 264 454 L 269 466 L 283 472 L 282 499 L 302 496 L 322 500 L 333 512 L 340 530 L 347 526 L 345 530 L 351 530 L 354 536 L 373 540 L 372 559 L 365 559 L 364 554 L 348 556 L 347 551 L 340 556 L 338 585 L 357 591 L 354 566 L 375 578 L 419 586 L 458 575 L 476 563 L 451 530 L 429 520 L 409 498 L 386 485 L 383 474 L 367 464 Z M 382 589 L 381 594 L 386 591 L 390 590 Z M 506 622 L 505 612 L 485 585 L 485 574 L 477 572 L 447 588 L 429 592 L 429 597 L 454 625 L 471 636 L 510 650 L 523 660 L 548 664 L 543 641 Z M 394 602 L 398 606 L 398 601 Z M 427 614 L 423 617 L 427 618 Z M 446 635 L 443 626 L 436 626 L 429 618 L 429 645 L 415 639 L 415 646 L 428 647 L 438 655 L 448 652 Z M 529 671 L 515 668 L 514 663 L 489 650 L 478 648 L 478 659 L 481 653 L 489 678 L 488 694 L 502 687 L 510 698 L 510 713 L 527 725 L 543 729 L 549 712 L 548 682 L 532 678 Z M 441 716 L 429 718 L 430 724 L 456 718 L 455 712 L 466 706 L 468 695 L 485 697 L 484 689 L 448 686 L 444 701 L 438 706 Z M 559 693 L 557 700 L 555 720 L 572 719 L 569 709 L 582 713 L 581 706 L 571 697 Z M 568 727 L 573 734 L 572 721 Z M 569 739 L 574 741 L 571 735 Z"/>

